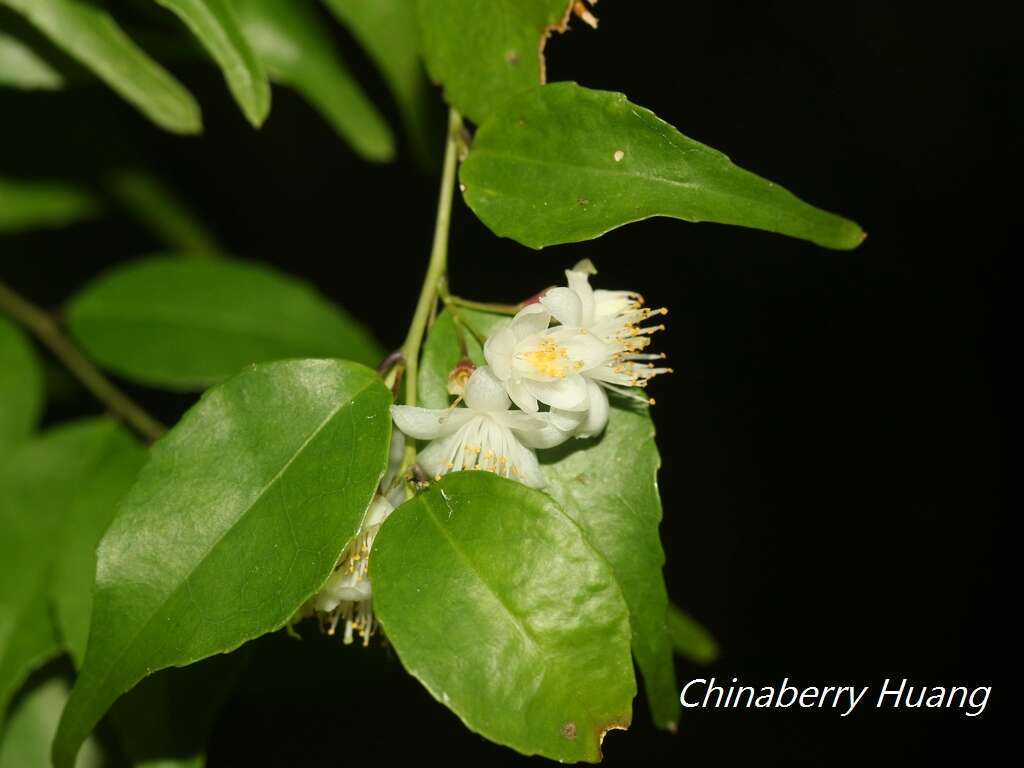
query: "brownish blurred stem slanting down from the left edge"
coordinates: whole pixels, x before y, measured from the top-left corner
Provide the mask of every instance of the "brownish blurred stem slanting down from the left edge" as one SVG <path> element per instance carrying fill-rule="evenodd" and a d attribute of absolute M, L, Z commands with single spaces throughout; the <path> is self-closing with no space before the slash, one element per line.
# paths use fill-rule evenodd
<path fill-rule="evenodd" d="M 115 416 L 148 440 L 156 440 L 167 427 L 118 389 L 60 333 L 56 322 L 39 307 L 0 283 L 0 310 L 29 329 L 86 389 L 105 403 Z"/>

